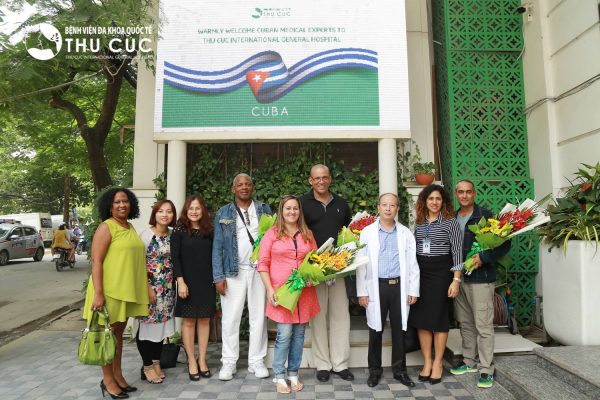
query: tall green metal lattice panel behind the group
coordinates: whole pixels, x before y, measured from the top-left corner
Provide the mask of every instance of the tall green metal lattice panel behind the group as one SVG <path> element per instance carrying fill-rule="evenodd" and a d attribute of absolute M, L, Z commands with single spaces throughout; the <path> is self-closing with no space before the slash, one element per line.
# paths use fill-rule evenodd
<path fill-rule="evenodd" d="M 519 0 L 433 0 L 438 140 L 444 185 L 461 179 L 477 188 L 477 202 L 498 212 L 533 198 L 529 177 Z M 535 310 L 538 244 L 513 239 L 506 283 L 519 325 Z"/>

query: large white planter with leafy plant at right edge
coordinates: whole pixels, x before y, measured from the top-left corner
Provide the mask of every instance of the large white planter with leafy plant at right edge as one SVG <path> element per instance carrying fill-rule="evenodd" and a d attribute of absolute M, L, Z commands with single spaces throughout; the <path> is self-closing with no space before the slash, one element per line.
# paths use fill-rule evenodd
<path fill-rule="evenodd" d="M 540 229 L 544 326 L 565 345 L 600 345 L 600 163 L 583 164 Z"/>

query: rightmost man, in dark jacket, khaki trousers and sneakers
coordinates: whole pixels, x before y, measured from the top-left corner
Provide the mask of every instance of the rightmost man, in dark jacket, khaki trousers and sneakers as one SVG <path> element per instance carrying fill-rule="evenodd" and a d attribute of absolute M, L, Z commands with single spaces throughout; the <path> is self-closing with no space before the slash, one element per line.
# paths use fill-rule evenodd
<path fill-rule="evenodd" d="M 492 218 L 492 213 L 475 204 L 475 185 L 469 180 L 456 184 L 455 196 L 460 204 L 456 212 L 463 232 L 463 257 L 471 250 L 475 234 L 468 229 L 482 217 Z M 494 384 L 494 289 L 496 286 L 496 261 L 510 250 L 510 240 L 500 247 L 484 250 L 474 255 L 476 269 L 464 275 L 460 293 L 454 299 L 456 318 L 460 323 L 463 362 L 450 372 L 462 375 L 479 372 L 477 386 L 489 388 Z M 477 362 L 479 359 L 479 362 Z"/>

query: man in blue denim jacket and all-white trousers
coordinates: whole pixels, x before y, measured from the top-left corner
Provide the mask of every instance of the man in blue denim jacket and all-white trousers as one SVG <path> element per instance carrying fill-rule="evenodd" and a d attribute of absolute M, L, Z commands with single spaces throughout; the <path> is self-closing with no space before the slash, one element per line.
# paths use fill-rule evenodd
<path fill-rule="evenodd" d="M 254 184 L 247 174 L 238 174 L 231 187 L 235 199 L 215 216 L 212 267 L 213 279 L 221 295 L 223 366 L 219 379 L 228 381 L 237 372 L 240 353 L 240 322 L 244 302 L 248 299 L 250 346 L 248 372 L 266 378 L 267 323 L 265 318 L 265 287 L 256 272 L 256 262 L 250 260 L 252 246 L 258 237 L 258 221 L 262 214 L 271 215 L 271 208 L 252 199 Z"/>

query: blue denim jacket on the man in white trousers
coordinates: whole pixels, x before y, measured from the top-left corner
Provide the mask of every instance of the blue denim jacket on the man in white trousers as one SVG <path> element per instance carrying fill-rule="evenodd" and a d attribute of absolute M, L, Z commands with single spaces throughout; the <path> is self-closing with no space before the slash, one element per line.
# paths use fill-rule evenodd
<path fill-rule="evenodd" d="M 262 214 L 271 215 L 271 208 L 265 203 L 252 200 L 256 215 L 260 220 Z M 215 215 L 215 236 L 213 239 L 213 280 L 222 281 L 238 274 L 237 252 L 237 211 L 234 203 L 229 203 L 219 209 Z M 245 236 L 244 236 L 245 237 Z"/>

